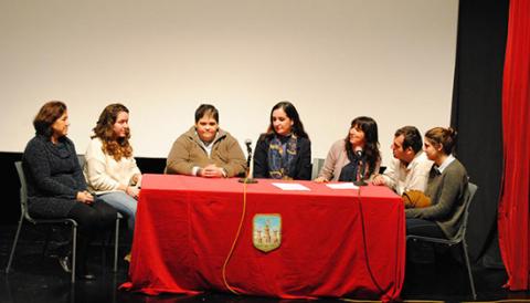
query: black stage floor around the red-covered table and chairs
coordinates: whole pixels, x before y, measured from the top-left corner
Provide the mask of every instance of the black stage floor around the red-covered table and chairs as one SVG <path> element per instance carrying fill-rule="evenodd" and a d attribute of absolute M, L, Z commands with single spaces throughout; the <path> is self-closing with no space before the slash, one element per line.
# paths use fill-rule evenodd
<path fill-rule="evenodd" d="M 4 273 L 15 226 L 0 226 L 0 302 L 285 302 L 271 297 L 236 296 L 225 293 L 203 293 L 195 296 L 165 294 L 148 296 L 117 290 L 126 281 L 127 263 L 123 257 L 128 250 L 126 237 L 120 238 L 118 272 L 112 272 L 112 247 L 91 247 L 88 267 L 96 281 L 70 283 L 70 274 L 62 271 L 57 260 L 42 255 L 42 238 L 31 227 L 23 228 L 11 272 Z M 124 233 L 124 232 L 121 232 Z M 478 301 L 530 301 L 530 292 L 508 292 L 504 270 L 475 268 Z M 448 253 L 436 255 L 435 263 L 407 264 L 403 301 L 473 301 L 465 268 Z M 356 300 L 362 300 L 357 297 Z M 311 301 L 314 302 L 314 301 Z M 343 302 L 321 299 L 317 302 Z"/>

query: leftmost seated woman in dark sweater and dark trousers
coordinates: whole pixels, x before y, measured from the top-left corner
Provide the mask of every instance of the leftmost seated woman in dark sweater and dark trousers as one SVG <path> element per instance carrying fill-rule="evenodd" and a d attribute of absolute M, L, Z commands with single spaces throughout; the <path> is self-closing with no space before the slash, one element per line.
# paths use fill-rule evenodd
<path fill-rule="evenodd" d="M 66 105 L 59 101 L 44 104 L 33 126 L 35 136 L 22 156 L 28 179 L 28 209 L 31 216 L 39 218 L 77 221 L 76 275 L 94 280 L 95 276 L 86 271 L 88 244 L 98 232 L 115 223 L 116 210 L 86 191 L 74 144 L 66 137 L 70 126 Z"/>

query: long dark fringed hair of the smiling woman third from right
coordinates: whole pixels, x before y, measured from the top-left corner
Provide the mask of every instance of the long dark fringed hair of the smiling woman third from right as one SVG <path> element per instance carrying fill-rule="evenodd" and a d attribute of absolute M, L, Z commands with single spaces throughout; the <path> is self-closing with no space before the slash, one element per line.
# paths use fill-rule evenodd
<path fill-rule="evenodd" d="M 370 175 L 373 174 L 375 165 L 381 160 L 381 154 L 379 153 L 379 137 L 378 137 L 378 124 L 371 117 L 360 116 L 351 122 L 350 129 L 353 127 L 360 128 L 364 133 L 364 155 L 370 166 Z M 350 132 L 346 135 L 344 146 L 347 153 L 353 153 L 353 148 L 350 143 Z M 378 173 L 378 171 L 375 171 Z"/>

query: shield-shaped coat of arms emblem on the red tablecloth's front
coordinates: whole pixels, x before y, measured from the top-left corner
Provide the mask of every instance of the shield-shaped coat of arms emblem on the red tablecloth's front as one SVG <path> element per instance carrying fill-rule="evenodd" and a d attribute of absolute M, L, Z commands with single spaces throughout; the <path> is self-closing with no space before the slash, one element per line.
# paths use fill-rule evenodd
<path fill-rule="evenodd" d="M 254 247 L 263 252 L 279 248 L 282 243 L 282 216 L 279 213 L 254 215 L 252 234 Z"/>

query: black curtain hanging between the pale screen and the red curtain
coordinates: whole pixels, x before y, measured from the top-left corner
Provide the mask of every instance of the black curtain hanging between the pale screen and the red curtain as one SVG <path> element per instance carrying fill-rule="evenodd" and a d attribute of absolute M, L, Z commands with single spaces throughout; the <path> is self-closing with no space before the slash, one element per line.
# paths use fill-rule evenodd
<path fill-rule="evenodd" d="M 502 67 L 508 0 L 460 0 L 452 125 L 457 157 L 478 191 L 469 212 L 471 259 L 502 267 L 497 206 L 502 176 Z"/>

